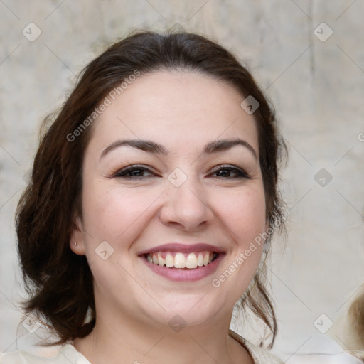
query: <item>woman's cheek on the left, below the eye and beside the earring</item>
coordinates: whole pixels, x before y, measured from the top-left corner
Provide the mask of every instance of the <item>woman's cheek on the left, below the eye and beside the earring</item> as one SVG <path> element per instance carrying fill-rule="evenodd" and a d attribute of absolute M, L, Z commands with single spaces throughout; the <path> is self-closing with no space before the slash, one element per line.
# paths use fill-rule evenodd
<path fill-rule="evenodd" d="M 107 183 L 103 183 L 107 185 Z M 142 231 L 146 210 L 156 196 L 144 191 L 126 191 L 115 186 L 84 185 L 85 251 L 95 280 L 95 289 L 109 295 L 109 288 L 130 283 L 123 269 L 129 262 L 129 247 Z M 118 277 L 117 281 L 110 277 Z M 129 282 L 129 283 L 128 283 Z"/>

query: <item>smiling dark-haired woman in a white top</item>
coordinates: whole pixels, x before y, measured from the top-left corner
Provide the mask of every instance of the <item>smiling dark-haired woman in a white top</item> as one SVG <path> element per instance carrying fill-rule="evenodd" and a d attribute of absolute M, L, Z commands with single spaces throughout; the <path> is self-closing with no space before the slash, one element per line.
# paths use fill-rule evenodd
<path fill-rule="evenodd" d="M 49 362 L 282 363 L 229 329 L 239 301 L 277 332 L 282 151 L 250 73 L 202 36 L 140 32 L 92 60 L 16 215 L 26 310 L 63 345 Z"/>

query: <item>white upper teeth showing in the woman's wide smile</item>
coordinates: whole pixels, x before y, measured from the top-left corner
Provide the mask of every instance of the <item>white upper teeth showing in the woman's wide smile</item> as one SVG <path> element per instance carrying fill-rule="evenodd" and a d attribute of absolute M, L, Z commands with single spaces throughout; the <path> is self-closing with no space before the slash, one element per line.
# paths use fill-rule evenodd
<path fill-rule="evenodd" d="M 195 269 L 208 265 L 213 261 L 213 252 L 193 252 L 193 253 L 181 253 L 181 252 L 153 252 L 146 255 L 146 259 L 149 263 L 158 264 L 161 267 L 168 268 L 189 268 Z"/>

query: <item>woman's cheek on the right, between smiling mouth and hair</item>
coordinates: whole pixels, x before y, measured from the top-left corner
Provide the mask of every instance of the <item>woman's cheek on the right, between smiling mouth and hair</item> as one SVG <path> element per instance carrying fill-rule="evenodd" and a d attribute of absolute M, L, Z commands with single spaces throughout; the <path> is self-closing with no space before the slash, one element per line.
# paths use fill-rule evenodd
<path fill-rule="evenodd" d="M 257 185 L 239 193 L 231 191 L 216 196 L 215 203 L 223 206 L 218 209 L 219 217 L 235 245 L 212 284 L 225 289 L 226 299 L 235 302 L 246 291 L 262 257 L 262 232 L 266 227 L 264 190 Z"/>

